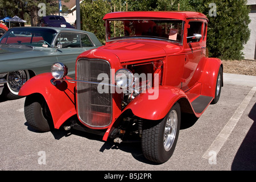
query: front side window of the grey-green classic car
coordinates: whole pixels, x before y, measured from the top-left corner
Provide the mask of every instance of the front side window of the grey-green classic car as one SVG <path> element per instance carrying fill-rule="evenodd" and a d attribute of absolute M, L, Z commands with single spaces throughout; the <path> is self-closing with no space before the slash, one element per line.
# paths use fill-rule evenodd
<path fill-rule="evenodd" d="M 81 47 L 80 34 L 72 32 L 62 32 L 58 36 L 55 46 L 60 43 L 62 48 Z"/>

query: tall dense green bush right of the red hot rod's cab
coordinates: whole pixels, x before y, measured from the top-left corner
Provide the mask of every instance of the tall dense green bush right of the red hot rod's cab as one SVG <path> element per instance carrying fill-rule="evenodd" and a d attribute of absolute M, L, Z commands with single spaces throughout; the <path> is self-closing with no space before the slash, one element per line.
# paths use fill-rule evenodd
<path fill-rule="evenodd" d="M 209 15 L 210 0 L 205 1 L 204 11 L 209 19 L 209 56 L 220 59 L 243 59 L 243 45 L 249 40 L 249 13 L 245 0 L 216 0 L 216 16 Z"/>

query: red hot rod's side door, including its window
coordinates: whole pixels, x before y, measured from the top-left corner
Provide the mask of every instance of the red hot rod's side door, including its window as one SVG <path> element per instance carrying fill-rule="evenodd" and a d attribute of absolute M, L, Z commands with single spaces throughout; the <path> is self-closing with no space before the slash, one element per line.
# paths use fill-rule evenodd
<path fill-rule="evenodd" d="M 187 43 L 185 45 L 185 64 L 183 72 L 183 85 L 181 89 L 188 90 L 194 86 L 199 78 L 197 78 L 196 70 L 203 56 L 203 25 L 199 20 L 191 20 L 188 23 Z M 201 35 L 201 38 L 191 38 L 195 34 Z M 190 38 L 188 38 L 190 37 Z"/>

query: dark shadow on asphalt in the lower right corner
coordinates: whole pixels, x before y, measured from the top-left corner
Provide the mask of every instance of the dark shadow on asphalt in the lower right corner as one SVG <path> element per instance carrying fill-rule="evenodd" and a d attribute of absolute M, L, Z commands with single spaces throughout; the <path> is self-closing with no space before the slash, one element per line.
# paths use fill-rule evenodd
<path fill-rule="evenodd" d="M 234 157 L 231 169 L 233 171 L 255 171 L 256 170 L 256 103 L 250 110 L 249 118 L 253 119 L 253 125 L 246 134 L 241 146 Z"/>

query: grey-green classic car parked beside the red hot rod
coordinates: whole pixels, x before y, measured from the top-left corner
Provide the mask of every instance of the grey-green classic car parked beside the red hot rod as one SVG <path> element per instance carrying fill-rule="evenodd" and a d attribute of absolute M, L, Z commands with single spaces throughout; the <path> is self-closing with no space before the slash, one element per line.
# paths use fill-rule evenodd
<path fill-rule="evenodd" d="M 91 32 L 55 27 L 10 28 L 0 39 L 0 94 L 19 98 L 21 86 L 31 77 L 50 71 L 56 61 L 69 67 L 75 78 L 75 57 L 102 46 Z"/>

